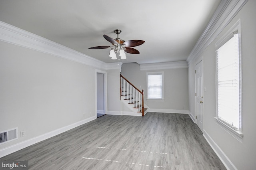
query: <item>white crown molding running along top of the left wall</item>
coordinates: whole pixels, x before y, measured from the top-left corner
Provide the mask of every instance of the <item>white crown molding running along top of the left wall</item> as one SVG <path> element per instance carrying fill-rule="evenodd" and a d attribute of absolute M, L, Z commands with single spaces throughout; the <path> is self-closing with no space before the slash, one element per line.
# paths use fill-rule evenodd
<path fill-rule="evenodd" d="M 0 40 L 3 42 L 34 49 L 57 57 L 89 65 L 92 67 L 106 69 L 107 64 L 103 61 L 75 51 L 64 45 L 52 42 L 36 34 L 32 34 L 20 28 L 14 27 L 0 21 Z"/>

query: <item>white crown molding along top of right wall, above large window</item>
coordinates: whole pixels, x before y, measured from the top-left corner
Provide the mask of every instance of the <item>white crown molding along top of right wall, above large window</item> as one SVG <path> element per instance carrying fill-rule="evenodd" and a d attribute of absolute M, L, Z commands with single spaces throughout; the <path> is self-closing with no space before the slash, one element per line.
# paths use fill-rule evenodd
<path fill-rule="evenodd" d="M 188 55 L 188 66 L 210 45 L 248 0 L 222 0 L 212 19 Z"/>

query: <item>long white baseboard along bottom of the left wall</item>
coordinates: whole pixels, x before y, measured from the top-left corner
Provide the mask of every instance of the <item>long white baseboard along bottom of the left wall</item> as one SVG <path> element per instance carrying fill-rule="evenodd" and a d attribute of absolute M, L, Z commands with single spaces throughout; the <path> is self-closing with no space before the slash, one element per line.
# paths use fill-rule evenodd
<path fill-rule="evenodd" d="M 31 138 L 31 139 L 28 139 L 28 140 L 25 140 L 23 142 L 20 142 L 20 143 L 17 143 L 17 144 L 14 144 L 12 146 L 8 146 L 6 148 L 3 148 L 0 150 L 0 158 L 2 158 L 3 156 L 6 156 L 8 154 L 11 154 L 13 152 L 16 152 L 18 150 L 21 150 L 23 148 L 26 148 L 28 146 L 31 146 L 32 144 L 36 144 L 38 142 L 41 142 L 43 140 L 46 140 L 48 138 L 51 138 L 53 136 L 56 136 L 58 134 L 61 134 L 63 132 L 66 132 L 72 128 L 75 128 L 75 127 L 78 127 L 80 125 L 83 125 L 85 123 L 88 123 L 90 121 L 93 121 L 94 119 L 97 119 L 97 116 L 93 116 L 93 117 L 90 117 L 88 119 L 84 119 L 82 121 L 79 121 L 79 122 L 76 122 L 76 123 L 73 123 L 71 125 L 68 125 L 66 127 L 62 127 L 62 128 L 58 128 L 56 130 L 53 130 L 51 132 L 48 132 L 48 133 L 45 133 L 45 134 L 42 134 L 40 136 L 36 136 L 34 138 Z"/>

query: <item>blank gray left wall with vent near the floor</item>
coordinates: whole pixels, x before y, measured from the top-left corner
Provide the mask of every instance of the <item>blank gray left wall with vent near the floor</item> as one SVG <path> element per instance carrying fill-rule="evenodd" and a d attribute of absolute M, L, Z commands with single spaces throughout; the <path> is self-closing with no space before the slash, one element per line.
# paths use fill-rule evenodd
<path fill-rule="evenodd" d="M 94 82 L 94 67 L 0 41 L 0 131 L 25 131 L 0 149 L 96 115 Z"/>

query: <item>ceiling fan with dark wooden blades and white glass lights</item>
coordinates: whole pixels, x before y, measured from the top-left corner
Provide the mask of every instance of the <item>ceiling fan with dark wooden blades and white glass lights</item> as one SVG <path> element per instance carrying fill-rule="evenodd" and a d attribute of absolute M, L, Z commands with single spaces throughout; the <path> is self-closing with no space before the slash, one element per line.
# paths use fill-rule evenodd
<path fill-rule="evenodd" d="M 97 47 L 90 47 L 89 49 L 105 49 L 105 48 L 111 48 L 109 56 L 112 57 L 112 59 L 119 59 L 119 56 L 121 59 L 126 59 L 126 53 L 131 54 L 139 54 L 140 52 L 137 49 L 131 48 L 136 47 L 138 45 L 142 45 L 145 41 L 143 40 L 128 40 L 124 41 L 121 38 L 119 38 L 119 34 L 121 33 L 121 30 L 114 30 L 114 33 L 117 34 L 117 38 L 113 39 L 110 38 L 107 35 L 103 35 L 103 37 L 112 45 L 114 46 L 97 46 Z"/>

